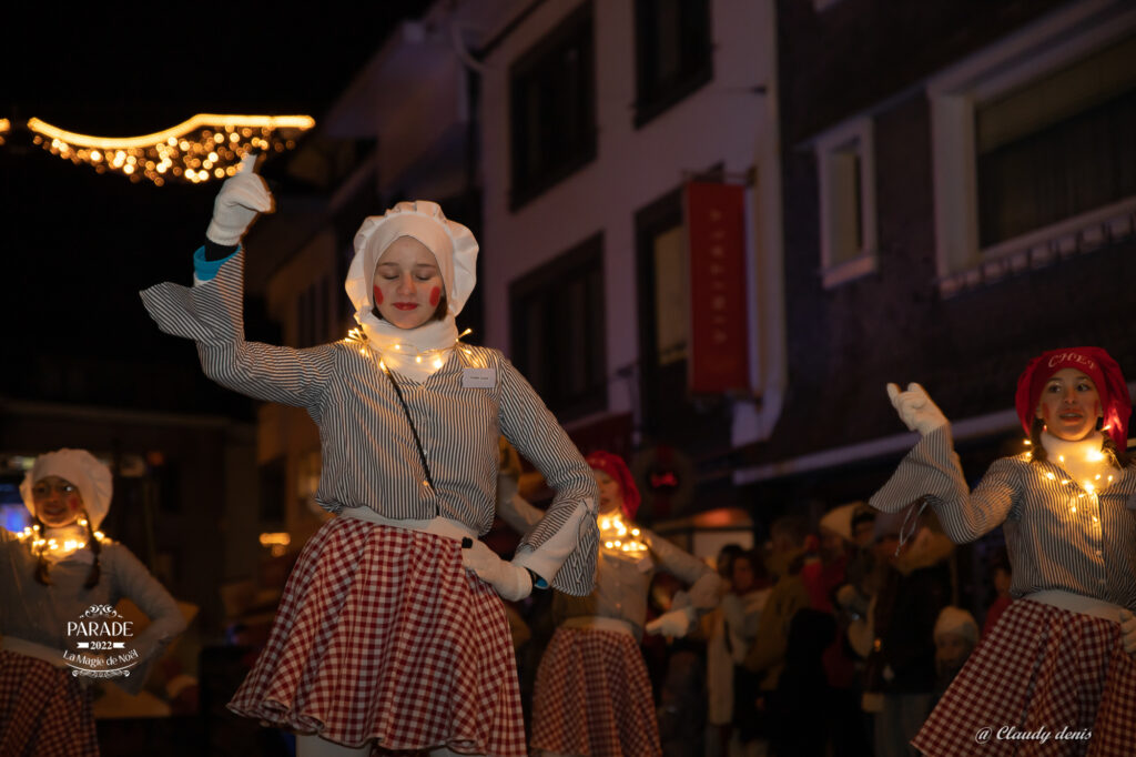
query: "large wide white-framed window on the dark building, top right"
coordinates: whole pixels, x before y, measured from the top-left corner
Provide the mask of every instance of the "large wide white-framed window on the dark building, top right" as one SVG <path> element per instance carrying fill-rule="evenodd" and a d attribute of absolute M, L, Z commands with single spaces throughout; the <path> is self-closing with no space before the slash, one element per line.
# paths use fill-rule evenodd
<path fill-rule="evenodd" d="M 1134 233 L 1136 10 L 1079 3 L 928 97 L 943 296 Z"/>

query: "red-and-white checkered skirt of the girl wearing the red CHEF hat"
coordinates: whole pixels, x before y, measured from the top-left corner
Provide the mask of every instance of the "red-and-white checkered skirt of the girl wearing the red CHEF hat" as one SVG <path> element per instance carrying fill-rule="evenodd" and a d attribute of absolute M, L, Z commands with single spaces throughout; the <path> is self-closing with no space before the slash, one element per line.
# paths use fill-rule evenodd
<path fill-rule="evenodd" d="M 1092 739 L 1002 740 L 999 729 L 1088 730 Z M 992 729 L 988 743 L 976 733 Z M 911 742 L 933 757 L 1136 754 L 1136 662 L 1120 626 L 1028 599 L 1010 602 Z"/>

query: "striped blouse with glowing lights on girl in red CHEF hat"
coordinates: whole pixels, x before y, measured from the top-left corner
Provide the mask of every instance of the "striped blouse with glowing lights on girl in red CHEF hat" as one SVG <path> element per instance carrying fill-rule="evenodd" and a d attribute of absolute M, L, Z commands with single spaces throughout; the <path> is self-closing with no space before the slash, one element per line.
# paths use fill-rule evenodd
<path fill-rule="evenodd" d="M 1085 491 L 1060 466 L 1029 454 L 994 461 L 974 491 L 967 486 L 950 425 L 908 452 L 870 504 L 896 513 L 927 498 L 955 543 L 1002 525 L 1013 568 L 1010 593 L 1058 589 L 1136 608 L 1136 466 Z"/>

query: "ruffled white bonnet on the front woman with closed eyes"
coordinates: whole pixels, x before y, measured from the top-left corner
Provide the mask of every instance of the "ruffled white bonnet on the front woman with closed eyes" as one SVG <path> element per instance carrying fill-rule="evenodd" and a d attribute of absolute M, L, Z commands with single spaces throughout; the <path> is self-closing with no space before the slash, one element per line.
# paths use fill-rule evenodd
<path fill-rule="evenodd" d="M 382 216 L 369 216 L 356 232 L 356 255 L 344 285 L 356 308 L 356 321 L 364 324 L 375 307 L 375 268 L 386 248 L 400 236 L 414 238 L 434 253 L 445 283 L 449 314 L 461 313 L 477 283 L 477 240 L 461 224 L 448 221 L 436 202 L 416 200 L 399 202 Z"/>

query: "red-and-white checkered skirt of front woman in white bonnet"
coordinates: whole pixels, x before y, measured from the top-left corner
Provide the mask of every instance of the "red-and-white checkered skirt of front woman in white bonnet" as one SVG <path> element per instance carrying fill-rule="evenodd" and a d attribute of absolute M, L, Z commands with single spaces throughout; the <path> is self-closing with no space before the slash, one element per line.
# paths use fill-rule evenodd
<path fill-rule="evenodd" d="M 228 707 L 346 746 L 525 755 L 504 610 L 460 542 L 356 518 L 304 546 Z"/>

